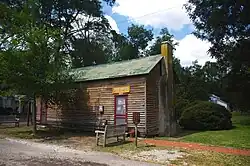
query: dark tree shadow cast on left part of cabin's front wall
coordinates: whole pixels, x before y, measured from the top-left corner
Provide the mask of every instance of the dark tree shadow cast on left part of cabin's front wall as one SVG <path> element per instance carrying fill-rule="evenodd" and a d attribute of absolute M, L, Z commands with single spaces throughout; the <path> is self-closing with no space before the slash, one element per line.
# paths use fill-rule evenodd
<path fill-rule="evenodd" d="M 98 95 L 95 96 L 98 98 Z M 86 87 L 75 85 L 56 96 L 53 104 L 47 108 L 47 124 L 58 130 L 66 130 L 75 135 L 92 136 L 98 120 L 98 102 L 90 103 L 89 92 Z"/>

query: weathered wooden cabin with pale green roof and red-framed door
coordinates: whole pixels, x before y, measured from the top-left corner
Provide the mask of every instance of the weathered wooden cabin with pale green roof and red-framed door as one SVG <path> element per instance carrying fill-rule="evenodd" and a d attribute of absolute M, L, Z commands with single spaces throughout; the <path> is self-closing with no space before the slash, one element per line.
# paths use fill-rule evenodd
<path fill-rule="evenodd" d="M 133 112 L 140 112 L 141 136 L 159 134 L 166 109 L 166 69 L 163 56 L 78 68 L 72 71 L 79 90 L 71 107 L 46 107 L 37 99 L 37 120 L 93 131 L 99 118 L 134 127 Z"/>

